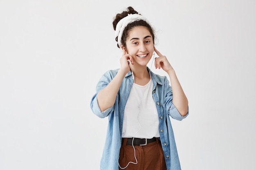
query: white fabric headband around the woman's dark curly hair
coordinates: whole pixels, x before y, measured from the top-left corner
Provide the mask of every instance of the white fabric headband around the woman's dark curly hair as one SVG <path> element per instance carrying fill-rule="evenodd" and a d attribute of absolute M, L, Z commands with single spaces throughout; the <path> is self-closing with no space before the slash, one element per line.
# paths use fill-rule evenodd
<path fill-rule="evenodd" d="M 123 31 L 125 29 L 125 27 L 134 22 L 134 21 L 138 21 L 138 20 L 144 20 L 146 21 L 149 25 L 150 23 L 148 22 L 148 20 L 142 16 L 142 15 L 139 15 L 139 14 L 128 14 L 128 16 L 124 17 L 123 19 L 121 19 L 118 23 L 117 23 L 117 26 L 116 26 L 116 31 L 115 31 L 115 37 L 118 37 L 117 38 L 117 42 L 118 42 L 118 45 L 119 47 L 121 47 L 121 38 L 122 38 L 122 35 L 123 35 Z"/>

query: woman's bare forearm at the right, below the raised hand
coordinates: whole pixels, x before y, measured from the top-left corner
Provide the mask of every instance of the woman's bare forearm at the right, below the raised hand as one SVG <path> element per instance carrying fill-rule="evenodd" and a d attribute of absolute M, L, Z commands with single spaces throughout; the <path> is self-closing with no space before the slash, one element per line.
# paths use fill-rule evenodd
<path fill-rule="evenodd" d="M 172 69 L 171 71 L 167 72 L 170 80 L 171 80 L 171 87 L 173 91 L 173 104 L 179 111 L 180 115 L 185 116 L 188 112 L 188 99 L 180 85 L 179 80 L 175 74 L 175 71 Z"/>

